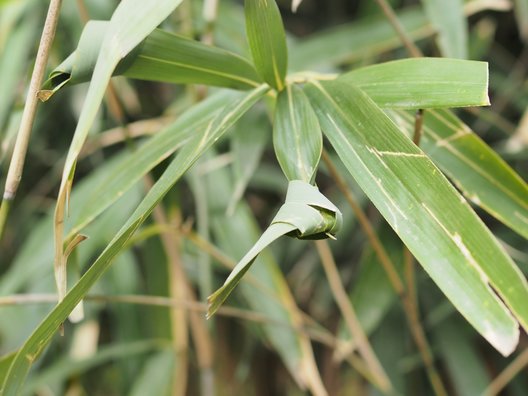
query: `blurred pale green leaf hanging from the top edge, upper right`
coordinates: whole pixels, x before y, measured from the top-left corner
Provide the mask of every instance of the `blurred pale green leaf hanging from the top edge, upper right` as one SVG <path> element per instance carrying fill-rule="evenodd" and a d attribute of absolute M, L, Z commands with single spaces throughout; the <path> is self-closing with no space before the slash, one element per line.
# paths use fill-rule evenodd
<path fill-rule="evenodd" d="M 467 20 L 463 0 L 422 0 L 429 20 L 438 33 L 442 55 L 467 58 Z"/>

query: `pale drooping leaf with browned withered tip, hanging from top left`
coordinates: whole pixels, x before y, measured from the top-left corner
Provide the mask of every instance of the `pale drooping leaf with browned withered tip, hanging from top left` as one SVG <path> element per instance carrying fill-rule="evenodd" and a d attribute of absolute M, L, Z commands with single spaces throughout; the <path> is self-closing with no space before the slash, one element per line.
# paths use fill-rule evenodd
<path fill-rule="evenodd" d="M 75 165 L 103 100 L 108 81 L 119 61 L 161 23 L 181 0 L 123 0 L 117 6 L 101 45 L 92 82 L 86 95 L 62 173 L 55 207 L 55 279 L 59 301 L 66 293 L 66 258 L 63 254 L 64 216 Z"/>

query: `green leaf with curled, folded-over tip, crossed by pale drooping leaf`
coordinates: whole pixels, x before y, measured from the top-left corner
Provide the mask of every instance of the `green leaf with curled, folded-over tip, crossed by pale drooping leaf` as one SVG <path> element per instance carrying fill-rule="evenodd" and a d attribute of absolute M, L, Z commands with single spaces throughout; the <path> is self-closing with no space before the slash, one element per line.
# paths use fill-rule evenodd
<path fill-rule="evenodd" d="M 46 99 L 65 84 L 90 80 L 109 25 L 106 21 L 86 24 L 77 49 L 44 84 Z M 255 88 L 261 81 L 255 68 L 241 56 L 160 29 L 120 60 L 113 75 L 237 89 Z"/>

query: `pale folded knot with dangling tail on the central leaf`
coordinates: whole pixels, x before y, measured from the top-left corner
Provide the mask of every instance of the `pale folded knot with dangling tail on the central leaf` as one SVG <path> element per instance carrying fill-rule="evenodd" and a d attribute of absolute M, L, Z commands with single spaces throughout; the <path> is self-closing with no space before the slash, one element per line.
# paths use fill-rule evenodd
<path fill-rule="evenodd" d="M 299 239 L 333 237 L 341 228 L 342 216 L 337 207 L 317 187 L 301 180 L 290 181 L 286 200 L 271 225 L 249 252 L 238 262 L 224 285 L 209 296 L 207 316 L 211 317 L 234 290 L 258 254 L 283 235 Z"/>

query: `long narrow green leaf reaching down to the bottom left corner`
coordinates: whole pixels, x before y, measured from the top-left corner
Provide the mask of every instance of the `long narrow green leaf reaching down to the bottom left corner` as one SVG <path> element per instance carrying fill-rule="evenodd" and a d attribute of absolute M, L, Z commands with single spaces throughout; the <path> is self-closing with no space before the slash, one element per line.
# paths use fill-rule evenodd
<path fill-rule="evenodd" d="M 12 362 L 3 387 L 0 389 L 2 395 L 11 396 L 19 392 L 31 365 L 51 341 L 60 324 L 66 320 L 93 284 L 108 270 L 115 256 L 126 247 L 130 237 L 147 219 L 154 207 L 205 150 L 210 148 L 268 89 L 267 86 L 262 86 L 239 96 L 238 100 L 228 104 L 205 128 L 195 131 L 192 140 L 170 163 L 106 249 L 24 343 Z"/>

